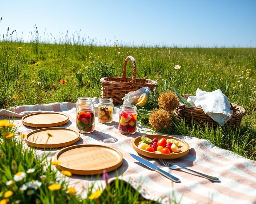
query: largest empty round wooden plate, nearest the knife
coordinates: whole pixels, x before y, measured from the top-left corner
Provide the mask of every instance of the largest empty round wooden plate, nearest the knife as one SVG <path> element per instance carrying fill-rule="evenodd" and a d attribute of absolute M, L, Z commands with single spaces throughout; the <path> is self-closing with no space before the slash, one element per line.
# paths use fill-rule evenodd
<path fill-rule="evenodd" d="M 93 175 L 117 169 L 123 162 L 118 150 L 103 145 L 74 145 L 58 151 L 54 160 L 61 162 L 59 168 L 73 174 Z"/>

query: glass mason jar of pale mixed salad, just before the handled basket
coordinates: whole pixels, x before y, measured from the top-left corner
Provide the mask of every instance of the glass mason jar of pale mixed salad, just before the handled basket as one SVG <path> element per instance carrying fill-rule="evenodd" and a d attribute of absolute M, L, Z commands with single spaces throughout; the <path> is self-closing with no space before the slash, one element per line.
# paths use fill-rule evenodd
<path fill-rule="evenodd" d="M 114 104 L 111 98 L 99 98 L 98 121 L 101 123 L 111 123 L 113 121 Z"/>

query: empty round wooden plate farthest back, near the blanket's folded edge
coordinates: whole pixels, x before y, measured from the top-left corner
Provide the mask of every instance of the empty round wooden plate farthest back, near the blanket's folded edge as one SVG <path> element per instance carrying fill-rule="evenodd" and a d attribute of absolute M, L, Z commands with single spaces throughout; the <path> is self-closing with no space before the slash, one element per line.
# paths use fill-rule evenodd
<path fill-rule="evenodd" d="M 23 125 L 30 127 L 49 128 L 67 123 L 69 116 L 64 113 L 41 112 L 23 116 L 21 121 Z"/>

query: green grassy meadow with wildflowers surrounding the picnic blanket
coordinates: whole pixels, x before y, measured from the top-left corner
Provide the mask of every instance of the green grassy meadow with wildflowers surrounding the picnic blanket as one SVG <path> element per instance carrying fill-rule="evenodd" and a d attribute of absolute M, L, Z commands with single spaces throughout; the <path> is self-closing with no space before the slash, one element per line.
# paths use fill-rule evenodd
<path fill-rule="evenodd" d="M 39 40 L 35 32 L 34 40 L 30 43 L 22 41 L 10 41 L 5 38 L 0 41 L 0 109 L 9 109 L 17 105 L 47 104 L 53 102 L 76 102 L 79 96 L 101 97 L 100 78 L 106 76 L 122 76 L 122 66 L 125 58 L 131 55 L 137 63 L 137 77 L 153 79 L 159 83 L 154 94 L 151 94 L 150 110 L 157 107 L 157 96 L 165 90 L 173 91 L 175 88 L 180 94 L 195 94 L 197 88 L 204 91 L 221 89 L 229 101 L 243 106 L 246 115 L 239 129 L 224 128 L 199 128 L 193 124 L 173 120 L 173 125 L 167 129 L 152 130 L 168 134 L 181 134 L 202 139 L 209 139 L 214 145 L 236 152 L 239 155 L 256 160 L 256 49 L 255 48 L 178 48 L 174 47 L 135 47 L 119 44 L 115 41 L 109 46 L 95 46 L 93 41 L 72 41 L 63 38 L 62 41 L 50 44 L 47 40 Z M 7 36 L 7 38 L 6 38 Z M 66 40 L 65 40 L 66 39 Z M 181 69 L 175 70 L 175 65 Z M 75 73 L 82 73 L 82 79 L 78 80 Z M 127 66 L 127 76 L 132 75 L 131 62 Z M 62 80 L 61 80 L 62 79 Z M 61 80 L 61 81 L 60 81 Z M 62 83 L 61 83 L 62 82 Z M 143 120 L 145 125 L 147 120 Z M 3 130 L 1 130 L 3 132 Z M 15 130 L 8 130 L 15 133 Z M 17 133 L 15 133 L 17 134 Z M 6 141 L 5 141 L 6 142 Z M 13 144 L 19 143 L 13 139 Z M 6 152 L 0 162 L 0 168 L 4 169 L 0 175 L 3 190 L 8 190 L 5 182 L 11 179 L 16 170 L 10 169 L 12 158 L 18 158 L 24 163 L 21 156 L 27 154 L 35 156 L 33 152 L 21 151 L 7 155 L 7 146 L 0 144 L 0 150 Z M 10 143 L 11 145 L 11 143 Z M 14 147 L 11 145 L 8 148 Z M 28 150 L 27 150 L 28 151 Z M 25 164 L 25 163 L 24 163 Z M 37 165 L 40 164 L 40 165 Z M 22 165 L 22 164 L 21 164 Z M 28 168 L 37 168 L 37 176 L 40 168 L 46 165 L 36 158 L 26 164 L 26 167 L 18 167 L 19 171 Z M 9 166 L 9 167 L 8 167 Z M 37 167 L 38 166 L 38 167 Z M 48 167 L 48 166 L 47 166 Z M 47 168 L 47 175 L 56 180 L 55 173 Z M 6 176 L 6 172 L 8 173 Z M 36 179 L 36 178 L 35 178 Z M 49 180 L 43 181 L 49 182 Z M 120 191 L 118 189 L 122 185 Z M 67 190 L 63 182 L 61 188 Z M 127 188 L 127 189 L 125 189 Z M 10 190 L 10 189 L 9 189 Z M 13 189 L 12 189 L 13 190 Z M 13 190 L 15 191 L 15 190 Z M 144 201 L 130 187 L 124 187 L 116 181 L 111 186 L 111 192 L 105 192 L 100 197 L 101 202 L 108 202 L 111 195 L 122 198 L 127 203 L 140 203 Z M 123 192 L 126 192 L 123 196 Z M 129 193 L 130 192 L 130 193 Z M 67 196 L 65 193 L 57 196 L 47 188 L 38 191 L 37 197 L 42 203 L 54 203 L 58 197 L 65 203 L 97 203 L 99 200 L 84 200 Z M 2 196 L 2 193 L 0 194 Z M 51 198 L 49 202 L 47 198 Z M 26 201 L 25 196 L 19 197 Z M 23 199 L 23 200 L 22 200 Z M 114 199 L 114 196 L 113 196 Z M 129 201 L 129 202 L 128 202 Z M 130 202 L 131 201 L 131 202 Z M 38 201 L 38 203 L 41 203 Z"/>

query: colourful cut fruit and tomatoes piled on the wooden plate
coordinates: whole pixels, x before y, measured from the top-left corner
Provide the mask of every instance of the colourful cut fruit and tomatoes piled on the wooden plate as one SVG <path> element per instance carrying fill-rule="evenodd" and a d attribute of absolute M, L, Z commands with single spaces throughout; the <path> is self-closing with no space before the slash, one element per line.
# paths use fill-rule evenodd
<path fill-rule="evenodd" d="M 145 136 L 141 136 L 138 148 L 146 150 L 148 152 L 155 152 L 161 154 L 177 153 L 180 151 L 179 142 L 175 139 L 150 139 Z"/>

